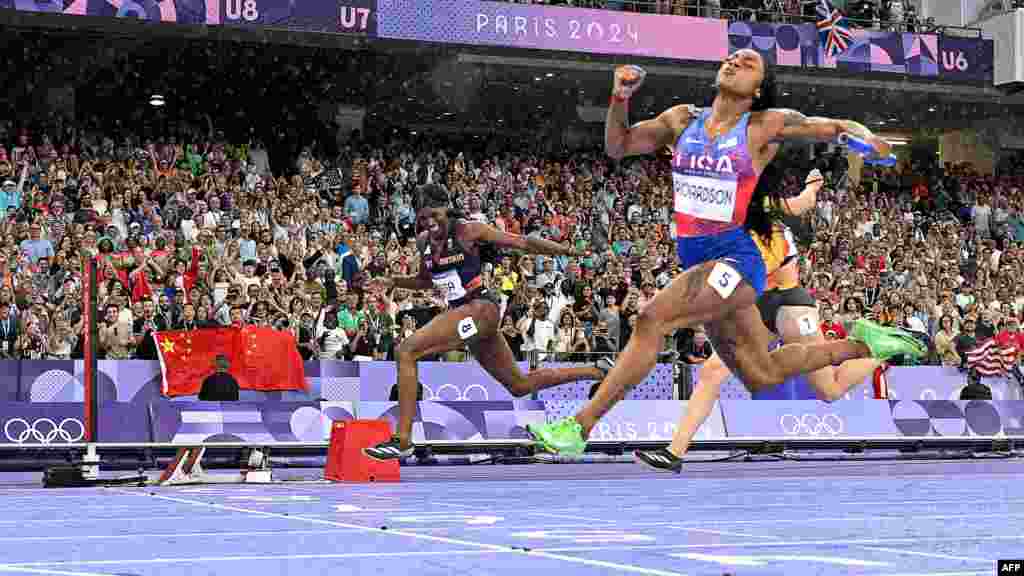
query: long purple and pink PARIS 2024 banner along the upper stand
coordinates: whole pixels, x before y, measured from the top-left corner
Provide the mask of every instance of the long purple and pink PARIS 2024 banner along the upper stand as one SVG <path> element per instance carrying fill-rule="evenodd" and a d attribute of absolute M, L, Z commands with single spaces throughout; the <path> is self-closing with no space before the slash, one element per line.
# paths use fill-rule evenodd
<path fill-rule="evenodd" d="M 480 0 L 0 0 L 0 8 L 688 61 L 753 48 L 784 67 L 959 81 L 990 81 L 994 59 L 992 41 L 981 38 L 854 29 L 850 47 L 831 57 L 812 22 L 728 23 Z"/>

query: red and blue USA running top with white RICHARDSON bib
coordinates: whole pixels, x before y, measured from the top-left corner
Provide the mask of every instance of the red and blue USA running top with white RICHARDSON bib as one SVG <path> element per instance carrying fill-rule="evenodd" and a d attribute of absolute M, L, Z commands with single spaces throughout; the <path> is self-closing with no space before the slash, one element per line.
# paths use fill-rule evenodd
<path fill-rule="evenodd" d="M 751 114 L 717 138 L 709 138 L 701 110 L 683 130 L 672 154 L 677 238 L 714 236 L 743 227 L 758 183 L 746 142 Z"/>

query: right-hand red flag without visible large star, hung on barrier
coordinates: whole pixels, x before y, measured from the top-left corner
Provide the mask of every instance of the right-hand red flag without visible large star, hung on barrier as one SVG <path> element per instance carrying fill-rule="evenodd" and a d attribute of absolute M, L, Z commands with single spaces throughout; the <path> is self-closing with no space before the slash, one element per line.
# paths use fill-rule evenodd
<path fill-rule="evenodd" d="M 291 332 L 258 326 L 241 329 L 238 369 L 231 374 L 239 387 L 251 390 L 306 389 L 302 357 Z"/>

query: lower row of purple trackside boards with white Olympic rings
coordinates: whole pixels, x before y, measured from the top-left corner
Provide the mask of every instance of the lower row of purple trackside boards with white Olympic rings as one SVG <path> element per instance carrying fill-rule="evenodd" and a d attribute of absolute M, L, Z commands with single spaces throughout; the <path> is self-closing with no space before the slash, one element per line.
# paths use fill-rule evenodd
<path fill-rule="evenodd" d="M 418 441 L 525 439 L 525 426 L 575 413 L 583 401 L 421 402 Z M 669 441 L 686 403 L 618 403 L 594 428 L 594 441 Z M 81 403 L 0 402 L 0 445 L 82 442 Z M 100 405 L 100 442 L 327 442 L 331 422 L 385 418 L 394 402 L 170 402 Z M 728 438 L 1024 437 L 1021 401 L 721 401 L 695 440 Z"/>

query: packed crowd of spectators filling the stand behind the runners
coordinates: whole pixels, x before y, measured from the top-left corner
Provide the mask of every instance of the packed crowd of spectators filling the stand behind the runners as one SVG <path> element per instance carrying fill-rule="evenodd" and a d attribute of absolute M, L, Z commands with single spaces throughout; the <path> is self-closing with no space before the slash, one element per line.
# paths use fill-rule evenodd
<path fill-rule="evenodd" d="M 412 193 L 428 181 L 443 182 L 469 218 L 586 250 L 506 253 L 487 268 L 520 356 L 621 349 L 638 312 L 679 272 L 664 159 L 484 155 L 355 134 L 337 158 L 306 150 L 273 174 L 259 142 L 216 131 L 119 143 L 8 133 L 0 329 L 9 358 L 81 356 L 82 253 L 99 257 L 105 358 L 152 359 L 155 330 L 232 322 L 293 330 L 305 358 L 390 358 L 444 305 L 436 294 L 362 289 L 374 276 L 416 272 Z M 799 232 L 809 241 L 804 282 L 828 336 L 866 316 L 927 333 L 933 362 L 950 365 L 974 338 L 1019 337 L 1020 178 L 903 164 L 856 186 L 843 157 L 815 162 L 834 186 Z M 793 161 L 788 193 L 808 168 Z M 702 356 L 699 334 L 675 340 L 684 357 Z"/>

